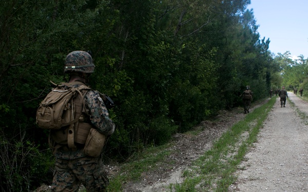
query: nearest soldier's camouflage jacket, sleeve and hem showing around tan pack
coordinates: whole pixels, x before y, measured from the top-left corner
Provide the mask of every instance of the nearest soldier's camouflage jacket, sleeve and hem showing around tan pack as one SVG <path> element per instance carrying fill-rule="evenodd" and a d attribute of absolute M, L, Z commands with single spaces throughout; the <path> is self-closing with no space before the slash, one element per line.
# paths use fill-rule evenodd
<path fill-rule="evenodd" d="M 80 84 L 75 84 L 78 87 Z M 114 131 L 114 123 L 109 118 L 107 108 L 97 91 L 90 90 L 85 94 L 84 97 L 85 106 L 89 116 L 90 123 L 98 130 L 98 132 L 104 135 L 111 135 Z M 56 158 L 60 159 L 76 159 L 86 157 L 83 153 L 83 148 L 77 148 L 74 150 L 67 150 L 67 147 L 63 146 L 57 148 L 54 153 Z"/>

